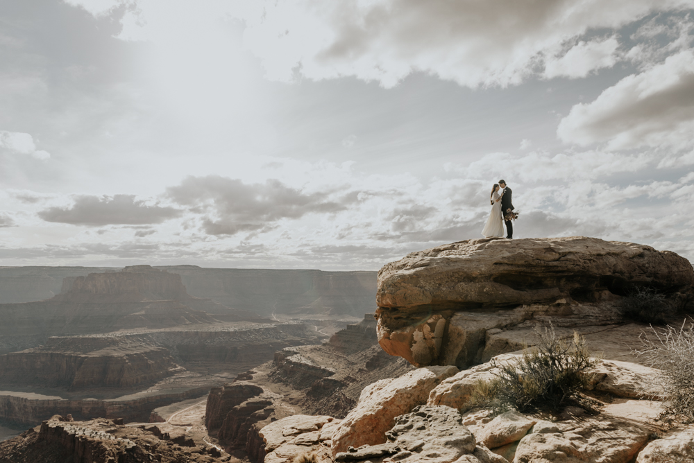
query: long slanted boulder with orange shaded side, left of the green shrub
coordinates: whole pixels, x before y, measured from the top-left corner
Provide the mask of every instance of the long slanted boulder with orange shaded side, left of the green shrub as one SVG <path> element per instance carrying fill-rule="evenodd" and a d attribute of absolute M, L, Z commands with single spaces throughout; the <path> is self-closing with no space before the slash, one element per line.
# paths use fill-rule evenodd
<path fill-rule="evenodd" d="M 429 392 L 458 372 L 455 367 L 419 368 L 399 378 L 382 379 L 367 386 L 355 408 L 332 435 L 332 454 L 348 447 L 383 444 L 395 417 L 427 402 Z"/>

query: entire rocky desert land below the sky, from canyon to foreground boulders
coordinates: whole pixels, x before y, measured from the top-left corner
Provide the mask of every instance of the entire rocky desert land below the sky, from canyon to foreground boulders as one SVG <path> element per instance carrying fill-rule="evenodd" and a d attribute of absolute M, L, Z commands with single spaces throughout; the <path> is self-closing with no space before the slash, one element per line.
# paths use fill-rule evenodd
<path fill-rule="evenodd" d="M 663 373 L 635 353 L 650 328 L 628 310 L 643 287 L 662 296 L 651 303 L 666 324 L 692 311 L 693 268 L 672 252 L 488 238 L 409 254 L 378 276 L 149 265 L 0 275 L 0 461 L 694 457 L 694 430 L 663 421 Z M 582 401 L 477 403 L 480 381 L 542 343 L 536 326 L 584 339 L 597 359 Z"/>

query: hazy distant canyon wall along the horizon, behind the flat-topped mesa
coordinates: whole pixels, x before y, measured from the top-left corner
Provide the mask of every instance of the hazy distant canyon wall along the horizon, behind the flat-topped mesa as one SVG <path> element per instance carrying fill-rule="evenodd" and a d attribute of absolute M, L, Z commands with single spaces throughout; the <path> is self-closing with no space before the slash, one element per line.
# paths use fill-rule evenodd
<path fill-rule="evenodd" d="M 200 268 L 195 265 L 156 268 L 180 275 L 189 295 L 210 298 L 223 306 L 260 315 L 274 312 L 361 316 L 364 311 L 375 309 L 376 272 Z M 67 290 L 78 277 L 117 270 L 0 267 L 0 304 L 49 299 L 62 289 Z M 62 279 L 66 277 L 69 279 L 63 288 Z M 225 313 L 220 306 L 202 310 Z"/>

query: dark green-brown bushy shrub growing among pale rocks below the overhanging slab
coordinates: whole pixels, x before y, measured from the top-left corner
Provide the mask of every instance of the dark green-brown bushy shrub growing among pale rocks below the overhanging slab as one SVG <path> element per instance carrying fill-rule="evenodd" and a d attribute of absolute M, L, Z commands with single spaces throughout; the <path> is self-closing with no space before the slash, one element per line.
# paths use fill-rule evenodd
<path fill-rule="evenodd" d="M 471 405 L 521 412 L 557 409 L 589 385 L 586 370 L 595 365 L 585 339 L 574 332 L 573 340 L 557 337 L 554 326 L 535 329 L 539 343 L 525 347 L 523 355 L 496 362 L 497 378 L 475 385 Z"/>

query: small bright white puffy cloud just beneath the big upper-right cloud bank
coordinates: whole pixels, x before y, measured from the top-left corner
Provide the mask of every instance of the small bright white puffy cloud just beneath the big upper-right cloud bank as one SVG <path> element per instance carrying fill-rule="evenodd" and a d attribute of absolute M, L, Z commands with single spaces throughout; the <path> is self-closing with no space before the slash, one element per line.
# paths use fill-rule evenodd
<path fill-rule="evenodd" d="M 545 77 L 586 77 L 592 71 L 613 67 L 617 62 L 619 42 L 616 37 L 591 42 L 578 42 L 561 58 L 545 62 Z"/>

